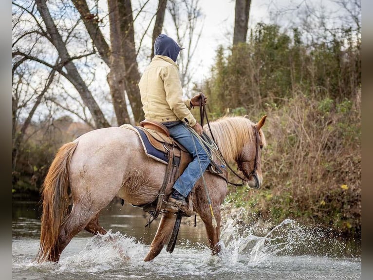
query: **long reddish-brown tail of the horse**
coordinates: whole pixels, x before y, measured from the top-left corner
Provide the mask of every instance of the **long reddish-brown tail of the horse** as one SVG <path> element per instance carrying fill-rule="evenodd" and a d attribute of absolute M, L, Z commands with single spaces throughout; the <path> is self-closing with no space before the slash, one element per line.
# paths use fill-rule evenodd
<path fill-rule="evenodd" d="M 69 206 L 69 166 L 77 145 L 77 141 L 64 144 L 58 150 L 45 177 L 42 186 L 43 214 L 37 262 L 45 261 L 53 250 L 58 250 L 58 235 Z"/>

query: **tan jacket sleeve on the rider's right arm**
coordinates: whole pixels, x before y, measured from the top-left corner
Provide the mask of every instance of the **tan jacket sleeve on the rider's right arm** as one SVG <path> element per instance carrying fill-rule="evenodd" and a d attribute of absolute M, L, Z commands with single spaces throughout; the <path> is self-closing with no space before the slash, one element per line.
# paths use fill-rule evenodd
<path fill-rule="evenodd" d="M 163 82 L 166 92 L 166 100 L 170 109 L 174 112 L 179 120 L 186 122 L 189 126 L 196 124 L 196 119 L 189 111 L 190 100 L 182 100 L 183 89 L 181 88 L 179 70 L 175 66 L 168 66 L 163 71 Z M 189 106 L 187 106 L 189 102 Z"/>

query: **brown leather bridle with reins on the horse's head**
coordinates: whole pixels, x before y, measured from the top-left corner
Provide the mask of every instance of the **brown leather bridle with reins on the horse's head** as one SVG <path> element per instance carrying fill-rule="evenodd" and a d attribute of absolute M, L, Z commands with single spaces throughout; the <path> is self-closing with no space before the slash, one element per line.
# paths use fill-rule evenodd
<path fill-rule="evenodd" d="M 201 120 L 201 126 L 203 127 L 204 126 L 204 120 L 206 118 L 206 122 L 207 122 L 207 125 L 208 125 L 208 129 L 210 131 L 210 134 L 211 134 L 211 138 L 212 140 L 215 142 L 216 144 L 216 141 L 215 141 L 215 138 L 214 138 L 214 135 L 212 134 L 212 131 L 211 131 L 211 127 L 210 127 L 210 123 L 208 122 L 208 117 L 207 117 L 207 112 L 206 112 L 206 107 L 205 107 L 205 95 L 203 93 L 201 93 L 201 98 L 200 98 L 200 120 Z M 224 160 L 224 157 L 222 155 L 222 153 L 220 152 L 220 149 L 219 149 L 219 146 L 217 145 L 218 147 L 218 152 L 220 154 L 220 156 L 222 157 L 222 159 L 224 160 L 225 162 L 225 165 L 229 168 L 229 170 L 236 176 L 238 177 L 239 179 L 242 180 L 242 183 L 233 183 L 233 182 L 230 182 L 227 180 L 227 182 L 231 185 L 234 185 L 234 186 L 245 186 L 245 185 L 248 185 L 247 182 L 248 182 L 248 179 L 250 178 L 250 176 L 253 176 L 254 180 L 255 180 L 255 188 L 256 189 L 259 189 L 260 188 L 260 183 L 259 183 L 259 178 L 258 178 L 258 174 L 257 174 L 257 169 L 258 169 L 258 155 L 259 155 L 259 131 L 258 131 L 258 128 L 254 125 L 253 126 L 253 129 L 254 129 L 254 134 L 255 134 L 255 160 L 254 160 L 254 168 L 253 168 L 253 171 L 250 172 L 250 174 L 245 175 L 245 172 L 242 168 L 242 164 L 243 163 L 246 163 L 246 161 L 239 161 L 238 162 L 238 169 L 242 172 L 243 176 L 242 177 L 241 175 L 239 175 L 236 171 L 234 171 L 232 169 L 232 167 L 228 164 L 228 162 L 226 162 L 226 160 Z M 243 183 L 245 182 L 245 183 Z"/>

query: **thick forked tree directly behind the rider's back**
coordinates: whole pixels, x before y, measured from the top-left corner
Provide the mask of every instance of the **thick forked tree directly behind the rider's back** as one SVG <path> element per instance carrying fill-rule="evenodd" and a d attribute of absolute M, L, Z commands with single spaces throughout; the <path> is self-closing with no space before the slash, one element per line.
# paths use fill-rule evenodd
<path fill-rule="evenodd" d="M 111 50 L 99 28 L 97 14 L 91 14 L 85 0 L 72 0 L 93 41 L 93 44 L 110 68 L 108 83 L 118 124 L 129 123 L 125 91 L 130 100 L 136 122 L 143 119 L 137 53 L 134 41 L 132 6 L 130 0 L 108 0 Z"/>

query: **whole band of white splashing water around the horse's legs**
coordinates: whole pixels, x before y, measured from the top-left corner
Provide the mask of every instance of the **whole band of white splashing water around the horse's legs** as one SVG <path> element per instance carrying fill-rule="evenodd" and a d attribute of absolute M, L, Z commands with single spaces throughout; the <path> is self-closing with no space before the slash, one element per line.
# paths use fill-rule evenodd
<path fill-rule="evenodd" d="M 190 270 L 190 263 L 198 266 L 217 267 L 229 269 L 231 266 L 271 266 L 273 257 L 278 256 L 332 256 L 336 252 L 345 254 L 345 243 L 328 236 L 327 232 L 317 227 L 301 226 L 295 220 L 286 219 L 280 224 L 265 231 L 262 224 L 247 225 L 242 220 L 230 219 L 225 222 L 220 237 L 222 252 L 218 257 L 211 257 L 206 245 L 189 244 L 188 241 L 178 241 L 177 249 L 170 255 L 163 250 L 155 262 L 164 263 L 164 269 L 182 265 Z M 261 236 L 258 232 L 264 232 Z M 190 248 L 193 246 L 194 248 Z M 190 259 L 189 253 L 193 251 L 194 257 Z M 94 236 L 85 245 L 84 249 L 74 256 L 66 257 L 60 261 L 60 271 L 73 268 L 79 271 L 80 267 L 93 273 L 106 271 L 115 266 L 137 268 L 148 266 L 143 258 L 149 251 L 149 245 L 142 244 L 135 238 L 113 234 L 109 231 L 105 235 Z M 327 252 L 327 253 L 326 253 Z M 334 253 L 333 253 L 334 252 Z M 334 254 L 334 255 L 333 255 Z M 188 257 L 186 263 L 183 259 Z M 168 267 L 169 266 L 169 267 Z"/>

